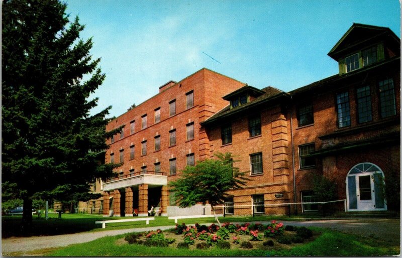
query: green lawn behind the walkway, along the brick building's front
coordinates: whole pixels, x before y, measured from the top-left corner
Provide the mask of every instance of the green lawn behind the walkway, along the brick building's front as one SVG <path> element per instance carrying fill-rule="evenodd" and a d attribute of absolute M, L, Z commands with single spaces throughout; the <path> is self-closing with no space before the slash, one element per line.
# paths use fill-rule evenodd
<path fill-rule="evenodd" d="M 21 218 L 22 216 L 2 216 L 2 237 L 21 236 Z M 131 217 L 103 217 L 102 215 L 89 214 L 62 214 L 61 219 L 57 219 L 57 214 L 50 214 L 50 218 L 46 220 L 44 217 L 33 217 L 33 231 L 31 235 L 59 235 L 68 233 L 77 233 L 84 231 L 103 231 L 125 228 L 151 227 L 151 226 L 169 226 L 175 225 L 174 220 L 168 220 L 167 217 L 155 217 L 155 220 L 149 221 L 149 225 L 145 221 L 122 222 L 106 224 L 106 228 L 102 228 L 102 224 L 95 224 L 98 220 L 110 219 L 128 219 Z M 286 221 L 305 219 L 303 217 L 288 216 L 245 216 L 245 217 L 220 217 L 221 222 L 251 222 L 251 221 L 270 221 L 272 219 Z M 195 223 L 216 223 L 214 218 L 194 218 L 179 219 L 178 223 L 195 224 Z"/>

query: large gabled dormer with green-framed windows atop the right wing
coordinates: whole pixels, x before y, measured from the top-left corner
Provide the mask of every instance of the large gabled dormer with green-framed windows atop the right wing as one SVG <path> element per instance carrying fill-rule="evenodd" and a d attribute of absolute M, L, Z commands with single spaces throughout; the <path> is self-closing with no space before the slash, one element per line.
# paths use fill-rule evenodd
<path fill-rule="evenodd" d="M 400 55 L 400 39 L 386 27 L 354 23 L 328 53 L 339 74 L 349 73 Z"/>

